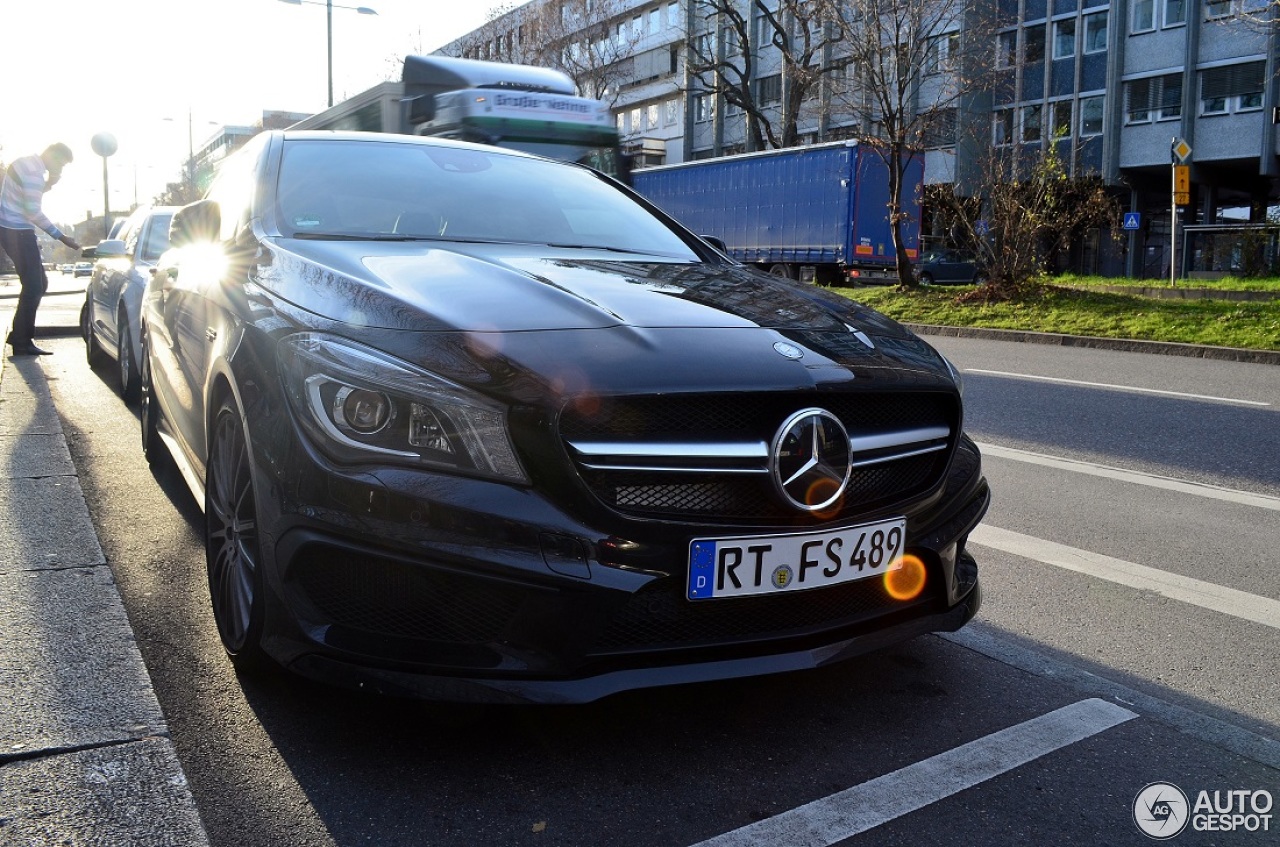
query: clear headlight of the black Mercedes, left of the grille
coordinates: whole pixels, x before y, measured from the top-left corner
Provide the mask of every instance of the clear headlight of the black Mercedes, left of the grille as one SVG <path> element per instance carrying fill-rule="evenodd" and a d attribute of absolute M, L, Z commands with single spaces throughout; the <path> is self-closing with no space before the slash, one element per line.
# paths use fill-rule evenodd
<path fill-rule="evenodd" d="M 334 459 L 529 481 L 511 444 L 506 407 L 333 335 L 289 335 L 278 356 L 294 415 Z"/>

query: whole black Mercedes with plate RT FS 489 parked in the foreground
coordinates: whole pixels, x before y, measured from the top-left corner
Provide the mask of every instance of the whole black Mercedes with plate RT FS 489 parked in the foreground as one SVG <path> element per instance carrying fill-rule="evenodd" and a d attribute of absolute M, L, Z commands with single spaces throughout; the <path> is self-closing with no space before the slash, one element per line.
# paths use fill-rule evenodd
<path fill-rule="evenodd" d="M 950 363 L 607 177 L 275 131 L 170 235 L 143 450 L 204 505 L 237 665 L 588 701 L 978 610 L 989 495 Z"/>

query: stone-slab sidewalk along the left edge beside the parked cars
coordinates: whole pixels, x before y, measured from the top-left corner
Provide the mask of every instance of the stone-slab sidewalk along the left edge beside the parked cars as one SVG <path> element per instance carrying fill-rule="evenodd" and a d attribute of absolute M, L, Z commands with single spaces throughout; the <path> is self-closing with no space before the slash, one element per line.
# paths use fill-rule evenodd
<path fill-rule="evenodd" d="M 40 336 L 78 333 L 59 276 Z M 0 278 L 0 338 L 15 294 Z M 206 846 L 42 358 L 0 356 L 0 843 Z"/>

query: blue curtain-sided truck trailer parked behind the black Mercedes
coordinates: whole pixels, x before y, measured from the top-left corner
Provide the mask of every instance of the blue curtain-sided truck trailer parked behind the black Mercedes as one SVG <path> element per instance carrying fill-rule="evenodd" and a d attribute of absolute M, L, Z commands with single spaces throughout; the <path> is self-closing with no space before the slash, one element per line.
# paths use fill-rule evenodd
<path fill-rule="evenodd" d="M 906 256 L 920 243 L 922 157 L 902 189 Z M 772 274 L 822 284 L 896 283 L 888 166 L 856 141 L 788 147 L 645 168 L 644 197 L 730 256 Z"/>

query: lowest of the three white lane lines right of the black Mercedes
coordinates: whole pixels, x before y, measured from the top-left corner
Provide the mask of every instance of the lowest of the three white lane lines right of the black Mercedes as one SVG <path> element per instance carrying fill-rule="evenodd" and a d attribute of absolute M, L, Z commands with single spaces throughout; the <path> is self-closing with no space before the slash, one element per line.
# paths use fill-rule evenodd
<path fill-rule="evenodd" d="M 969 540 L 984 548 L 1004 550 L 1024 559 L 1052 564 L 1065 571 L 1084 573 L 1140 591 L 1155 591 L 1171 600 L 1189 603 L 1202 609 L 1211 609 L 1233 618 L 1280 629 L 1280 601 L 1270 598 L 1261 598 L 1256 594 L 1247 594 L 1212 582 L 1193 580 L 1158 568 L 1148 568 L 1144 564 L 1114 559 L 1100 553 L 1069 548 L 1065 544 L 993 526 L 977 527 L 969 534 Z"/>

